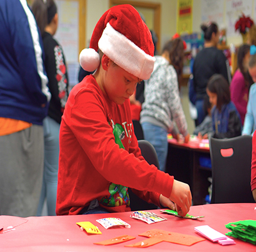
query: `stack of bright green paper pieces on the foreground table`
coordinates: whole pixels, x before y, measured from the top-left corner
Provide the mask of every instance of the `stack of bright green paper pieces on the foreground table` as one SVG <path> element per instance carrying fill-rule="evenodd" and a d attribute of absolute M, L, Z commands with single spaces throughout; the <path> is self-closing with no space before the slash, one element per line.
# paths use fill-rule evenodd
<path fill-rule="evenodd" d="M 245 242 L 251 242 L 256 245 L 256 221 L 248 219 L 246 221 L 228 223 L 225 226 L 232 230 L 231 232 L 226 233 L 226 235 L 244 240 Z"/>

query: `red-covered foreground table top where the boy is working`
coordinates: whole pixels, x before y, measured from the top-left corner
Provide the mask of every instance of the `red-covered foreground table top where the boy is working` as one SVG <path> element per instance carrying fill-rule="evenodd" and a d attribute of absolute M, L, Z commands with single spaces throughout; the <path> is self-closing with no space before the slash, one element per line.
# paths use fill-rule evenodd
<path fill-rule="evenodd" d="M 0 216 L 0 226 L 15 226 L 15 230 L 0 232 L 0 251 L 1 252 L 30 252 L 30 251 L 225 251 L 236 252 L 256 251 L 256 246 L 242 240 L 237 240 L 236 245 L 221 246 L 209 240 L 198 242 L 192 246 L 184 246 L 169 242 L 161 242 L 149 248 L 126 248 L 125 244 L 134 244 L 145 240 L 138 234 L 151 229 L 161 229 L 169 232 L 184 233 L 195 235 L 195 226 L 209 225 L 221 233 L 228 232 L 225 224 L 245 219 L 256 219 L 256 203 L 237 203 L 237 204 L 212 204 L 198 205 L 191 207 L 189 214 L 194 216 L 204 215 L 200 220 L 182 219 L 180 217 L 163 214 L 167 221 L 160 223 L 147 224 L 129 217 L 131 212 L 113 214 L 91 214 L 87 216 L 45 216 L 45 217 L 13 217 Z M 154 210 L 156 214 L 161 214 L 160 210 Z M 103 217 L 119 217 L 123 221 L 131 224 L 131 228 L 115 228 L 106 230 L 97 223 L 96 219 Z M 81 231 L 76 222 L 90 221 L 97 225 L 102 235 L 88 235 Z M 111 246 L 95 245 L 93 242 L 111 239 L 120 235 L 132 235 L 136 237 L 121 244 Z M 140 250 L 141 249 L 141 250 Z"/>

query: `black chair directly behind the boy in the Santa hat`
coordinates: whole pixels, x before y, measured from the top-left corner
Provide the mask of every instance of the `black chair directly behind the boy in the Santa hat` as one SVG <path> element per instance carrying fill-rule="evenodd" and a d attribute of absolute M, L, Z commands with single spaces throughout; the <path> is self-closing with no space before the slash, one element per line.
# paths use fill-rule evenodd
<path fill-rule="evenodd" d="M 139 140 L 138 144 L 141 150 L 141 155 L 148 162 L 148 164 L 154 164 L 159 169 L 159 162 L 154 146 L 146 140 Z M 147 203 L 145 200 L 141 200 L 141 198 L 132 192 L 131 188 L 129 188 L 128 191 L 132 211 L 157 209 L 156 205 Z"/>

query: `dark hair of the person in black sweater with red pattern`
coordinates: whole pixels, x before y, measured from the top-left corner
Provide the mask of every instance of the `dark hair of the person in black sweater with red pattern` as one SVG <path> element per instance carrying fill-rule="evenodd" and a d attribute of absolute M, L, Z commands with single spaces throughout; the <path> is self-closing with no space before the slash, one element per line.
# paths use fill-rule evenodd
<path fill-rule="evenodd" d="M 32 12 L 43 35 L 45 27 L 51 23 L 51 20 L 57 13 L 57 6 L 54 0 L 47 0 L 46 3 L 43 0 L 35 0 L 32 4 Z"/>

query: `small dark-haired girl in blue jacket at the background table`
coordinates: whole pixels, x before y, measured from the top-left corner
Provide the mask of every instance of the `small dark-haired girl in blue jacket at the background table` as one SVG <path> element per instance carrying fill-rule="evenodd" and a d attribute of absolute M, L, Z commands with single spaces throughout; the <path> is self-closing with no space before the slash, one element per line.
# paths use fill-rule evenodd
<path fill-rule="evenodd" d="M 221 74 L 209 79 L 206 93 L 212 104 L 213 138 L 234 138 L 241 135 L 242 123 L 236 106 L 230 99 L 227 80 Z M 205 138 L 205 136 L 204 136 Z"/>

